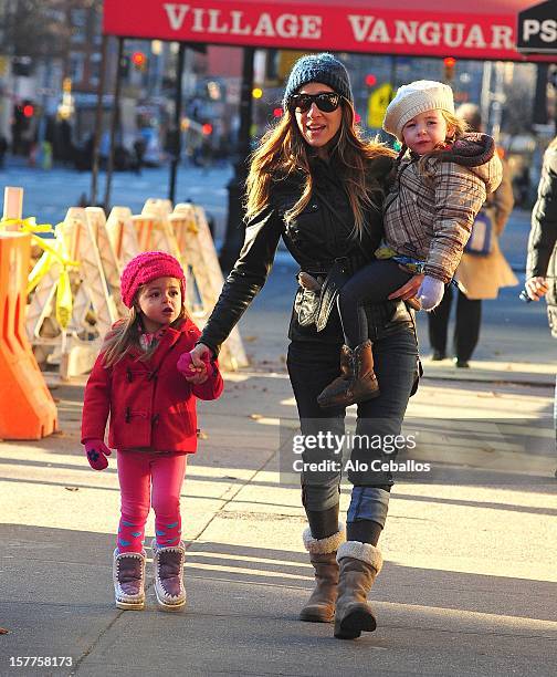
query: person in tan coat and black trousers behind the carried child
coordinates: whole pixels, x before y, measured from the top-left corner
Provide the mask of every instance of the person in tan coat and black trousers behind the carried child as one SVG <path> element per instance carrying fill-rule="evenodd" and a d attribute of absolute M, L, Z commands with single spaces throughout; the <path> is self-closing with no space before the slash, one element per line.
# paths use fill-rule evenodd
<path fill-rule="evenodd" d="M 482 132 L 480 108 L 475 104 L 463 104 L 456 110 L 471 132 Z M 486 254 L 472 254 L 464 251 L 455 278 L 466 290 L 453 290 L 448 285 L 443 300 L 439 306 L 428 315 L 429 340 L 433 361 L 446 357 L 446 341 L 449 333 L 449 319 L 451 304 L 456 294 L 456 319 L 454 324 L 454 353 L 455 365 L 466 368 L 470 366 L 474 350 L 480 338 L 482 322 L 482 300 L 496 299 L 502 287 L 518 284 L 508 262 L 503 256 L 498 238 L 514 207 L 513 186 L 507 164 L 503 162 L 503 179 L 500 187 L 487 196 L 484 209 L 492 219 L 492 249 Z"/>

